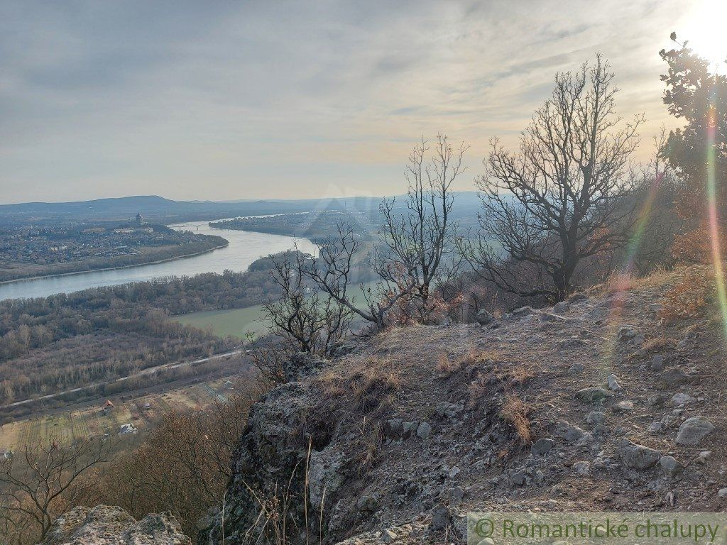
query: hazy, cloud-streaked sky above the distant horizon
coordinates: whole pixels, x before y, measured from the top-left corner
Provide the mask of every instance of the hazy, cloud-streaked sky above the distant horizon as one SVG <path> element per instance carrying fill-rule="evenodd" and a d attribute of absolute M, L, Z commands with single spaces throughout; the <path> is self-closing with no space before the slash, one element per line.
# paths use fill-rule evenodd
<path fill-rule="evenodd" d="M 0 203 L 400 194 L 438 132 L 470 146 L 472 190 L 491 137 L 514 148 L 595 52 L 646 160 L 675 126 L 659 49 L 727 56 L 723 4 L 0 0 Z"/>

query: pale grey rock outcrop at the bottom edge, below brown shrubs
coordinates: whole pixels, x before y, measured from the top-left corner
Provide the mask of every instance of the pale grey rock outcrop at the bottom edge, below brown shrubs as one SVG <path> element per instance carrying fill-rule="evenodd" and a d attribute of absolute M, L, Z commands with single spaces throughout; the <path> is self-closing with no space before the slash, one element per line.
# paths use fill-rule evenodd
<path fill-rule="evenodd" d="M 172 514 L 134 519 L 121 507 L 76 507 L 58 517 L 43 545 L 191 545 Z"/>

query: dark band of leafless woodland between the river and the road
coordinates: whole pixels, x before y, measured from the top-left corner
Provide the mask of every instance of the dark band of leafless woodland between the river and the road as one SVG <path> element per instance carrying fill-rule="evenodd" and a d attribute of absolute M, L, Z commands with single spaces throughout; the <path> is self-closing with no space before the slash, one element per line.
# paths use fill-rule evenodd
<path fill-rule="evenodd" d="M 268 262 L 259 260 L 246 273 L 0 302 L 0 405 L 230 349 L 237 339 L 220 339 L 170 317 L 276 297 Z"/>

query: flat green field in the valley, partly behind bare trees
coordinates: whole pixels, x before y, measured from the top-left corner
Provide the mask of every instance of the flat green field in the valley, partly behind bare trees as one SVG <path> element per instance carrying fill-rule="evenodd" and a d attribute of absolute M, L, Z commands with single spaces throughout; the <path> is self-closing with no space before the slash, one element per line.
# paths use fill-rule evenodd
<path fill-rule="evenodd" d="M 374 284 L 374 282 L 371 282 L 367 286 L 373 287 Z M 356 294 L 356 306 L 360 306 L 364 301 L 361 288 L 357 286 L 353 292 Z M 262 318 L 262 305 L 256 304 L 254 307 L 192 312 L 176 316 L 174 320 L 185 324 L 185 326 L 200 329 L 211 328 L 212 333 L 217 336 L 232 335 L 238 337 L 238 339 L 244 339 L 248 331 L 254 335 L 265 332 L 265 323 L 262 323 L 260 318 Z"/>

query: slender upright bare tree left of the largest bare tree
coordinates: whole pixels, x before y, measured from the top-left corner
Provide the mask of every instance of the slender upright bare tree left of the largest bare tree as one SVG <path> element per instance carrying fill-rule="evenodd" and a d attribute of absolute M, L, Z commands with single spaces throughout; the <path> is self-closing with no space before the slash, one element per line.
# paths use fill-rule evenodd
<path fill-rule="evenodd" d="M 422 139 L 411 150 L 406 166 L 406 211 L 399 211 L 395 198 L 385 200 L 380 207 L 385 220 L 381 235 L 387 249 L 382 257 L 412 275 L 414 294 L 425 308 L 432 284 L 445 280 L 438 275 L 449 278 L 457 272 L 451 185 L 465 171 L 462 159 L 467 148 L 462 143 L 455 149 L 446 135 L 437 134 L 433 156 L 427 163 L 430 146 Z"/>

